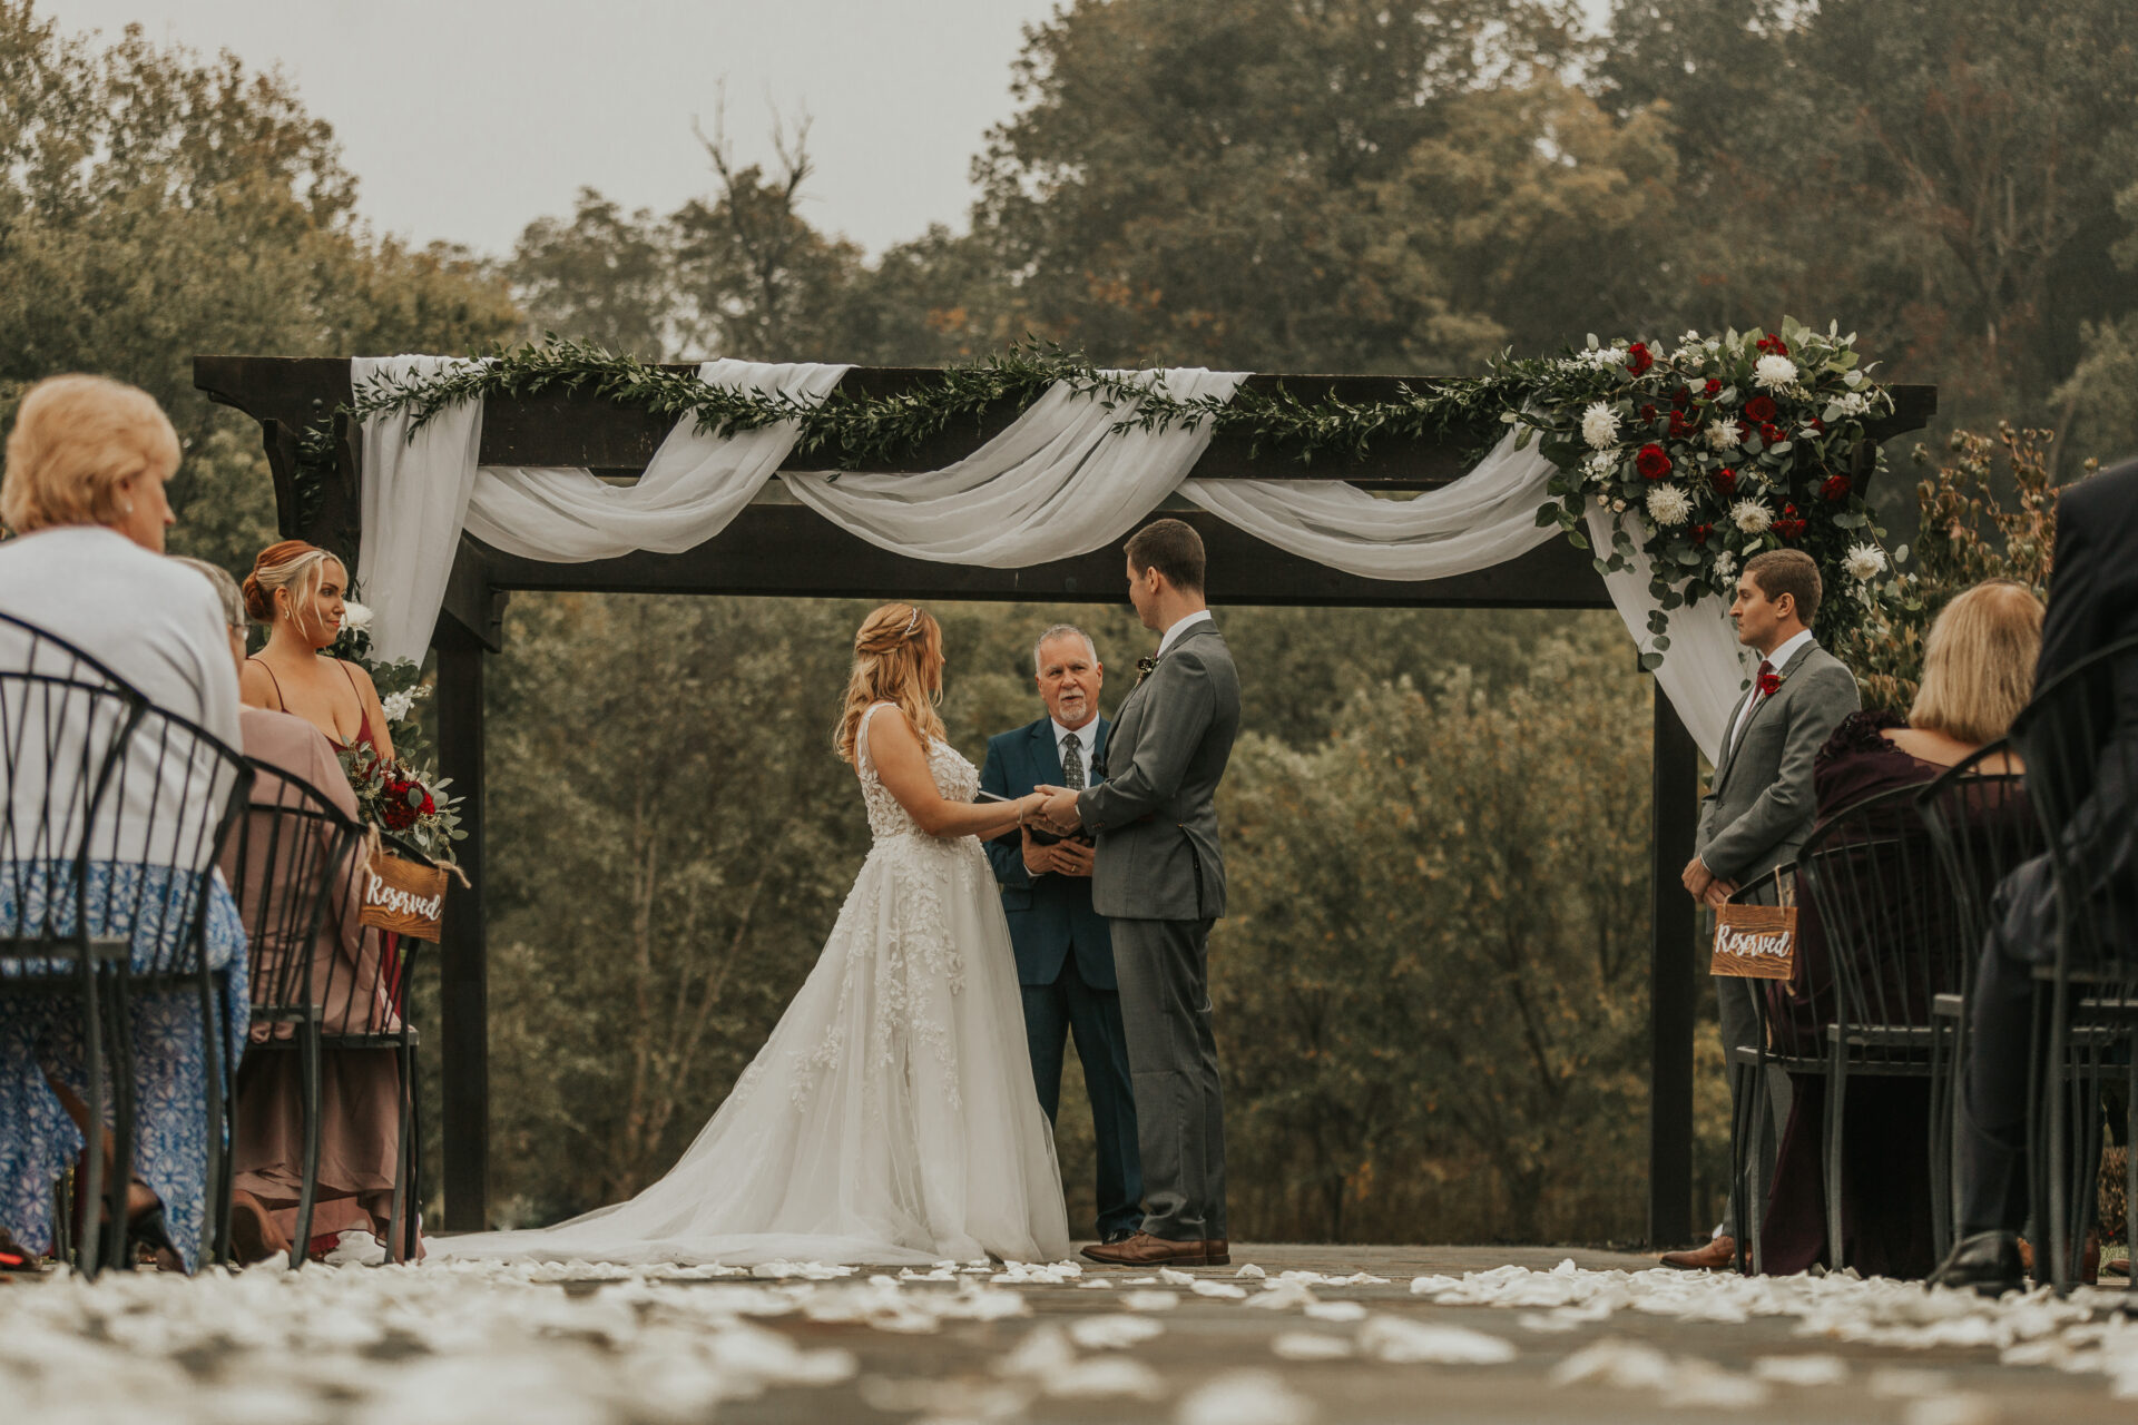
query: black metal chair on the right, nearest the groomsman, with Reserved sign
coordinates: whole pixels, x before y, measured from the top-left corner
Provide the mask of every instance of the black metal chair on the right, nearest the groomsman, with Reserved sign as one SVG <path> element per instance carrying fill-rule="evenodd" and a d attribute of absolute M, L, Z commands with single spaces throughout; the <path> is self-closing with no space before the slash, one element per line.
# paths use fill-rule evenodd
<path fill-rule="evenodd" d="M 1826 1246 L 1837 1269 L 1849 1075 L 1933 1081 L 1933 1004 L 1961 991 L 1971 964 L 1920 797 L 1920 786 L 1873 793 L 1824 820 L 1798 855 L 1837 985 L 1824 1122 Z M 1939 1181 L 1933 1143 L 1933 1222 Z"/>

